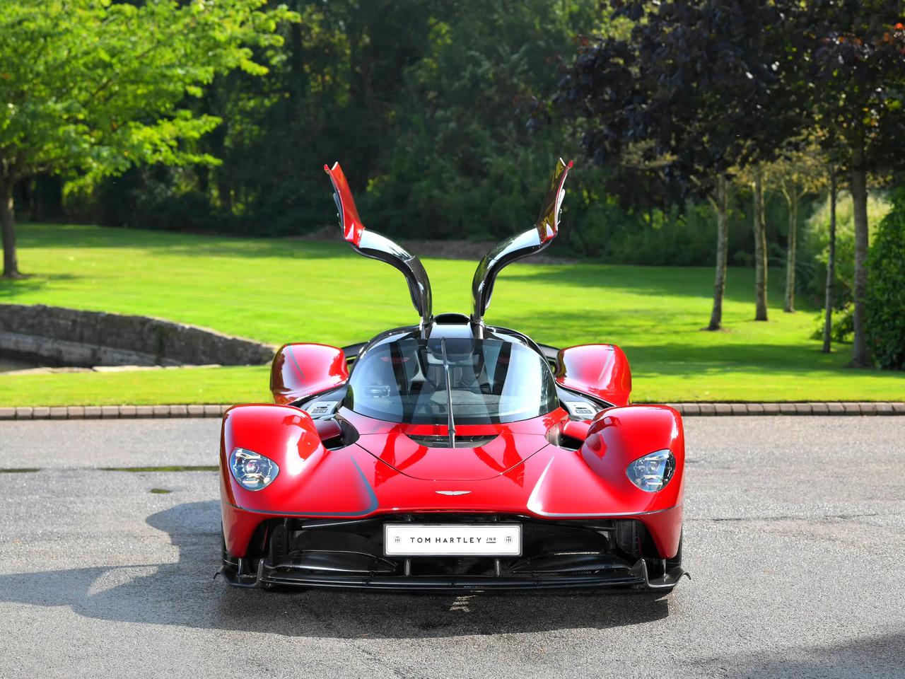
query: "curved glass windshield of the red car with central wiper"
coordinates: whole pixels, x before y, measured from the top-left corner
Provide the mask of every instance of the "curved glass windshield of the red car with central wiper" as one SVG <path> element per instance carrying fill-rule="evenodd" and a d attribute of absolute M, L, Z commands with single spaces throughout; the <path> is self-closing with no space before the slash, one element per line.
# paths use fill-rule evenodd
<path fill-rule="evenodd" d="M 531 349 L 502 339 L 445 344 L 457 425 L 516 422 L 559 406 L 547 363 Z M 367 349 L 349 378 L 346 406 L 387 422 L 446 425 L 440 339 L 396 339 Z"/>

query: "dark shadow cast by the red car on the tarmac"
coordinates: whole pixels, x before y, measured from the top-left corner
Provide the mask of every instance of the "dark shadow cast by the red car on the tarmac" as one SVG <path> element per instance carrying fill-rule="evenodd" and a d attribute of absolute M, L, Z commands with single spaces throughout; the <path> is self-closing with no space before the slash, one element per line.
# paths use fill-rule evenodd
<path fill-rule="evenodd" d="M 637 625 L 669 615 L 647 592 L 405 594 L 264 592 L 213 579 L 219 502 L 186 502 L 148 517 L 178 550 L 175 563 L 0 576 L 0 601 L 71 607 L 100 620 L 284 636 L 430 638 Z"/>

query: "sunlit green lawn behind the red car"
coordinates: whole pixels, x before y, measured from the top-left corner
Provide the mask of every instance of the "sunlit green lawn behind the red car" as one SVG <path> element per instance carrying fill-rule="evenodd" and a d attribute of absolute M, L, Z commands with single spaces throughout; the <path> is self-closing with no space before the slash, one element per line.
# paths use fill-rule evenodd
<path fill-rule="evenodd" d="M 341 243 L 22 225 L 19 244 L 32 276 L 0 282 L 0 302 L 145 314 L 273 344 L 341 346 L 416 320 L 402 276 Z M 476 263 L 423 254 L 434 311 L 469 311 Z M 557 346 L 619 344 L 639 401 L 905 400 L 902 373 L 845 368 L 846 346 L 820 352 L 808 339 L 814 310 L 776 306 L 781 272 L 770 272 L 771 320 L 751 320 L 753 278 L 729 271 L 727 330 L 707 332 L 710 268 L 515 264 L 500 275 L 487 320 Z M 0 376 L 5 406 L 268 396 L 266 367 Z"/>

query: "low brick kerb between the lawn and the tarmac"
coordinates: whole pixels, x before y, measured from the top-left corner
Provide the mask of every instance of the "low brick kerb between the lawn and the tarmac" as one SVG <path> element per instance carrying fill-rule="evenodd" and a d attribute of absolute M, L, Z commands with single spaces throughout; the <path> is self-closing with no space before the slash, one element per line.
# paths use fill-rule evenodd
<path fill-rule="evenodd" d="M 636 404 L 643 405 L 643 404 Z M 685 416 L 902 415 L 905 403 L 892 401 L 808 403 L 672 403 Z M 35 406 L 0 407 L 0 420 L 136 419 L 222 417 L 230 405 L 206 406 Z"/>

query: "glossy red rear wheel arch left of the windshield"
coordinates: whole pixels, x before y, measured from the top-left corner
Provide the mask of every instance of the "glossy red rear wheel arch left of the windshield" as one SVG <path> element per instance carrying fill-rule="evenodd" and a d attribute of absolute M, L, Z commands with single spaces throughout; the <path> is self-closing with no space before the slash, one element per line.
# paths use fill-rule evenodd
<path fill-rule="evenodd" d="M 286 344 L 273 357 L 273 401 L 286 405 L 341 387 L 348 381 L 346 354 L 326 344 Z"/>

